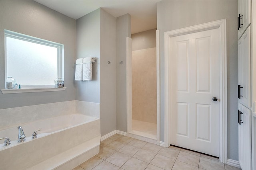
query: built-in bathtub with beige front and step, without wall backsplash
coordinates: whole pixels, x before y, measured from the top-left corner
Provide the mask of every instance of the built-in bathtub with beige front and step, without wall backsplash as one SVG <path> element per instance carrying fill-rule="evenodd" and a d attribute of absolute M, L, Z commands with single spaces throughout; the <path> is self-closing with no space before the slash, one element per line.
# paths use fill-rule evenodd
<path fill-rule="evenodd" d="M 0 169 L 38 169 L 38 164 L 43 169 L 68 169 L 64 164 L 72 160 L 67 167 L 72 168 L 85 160 L 74 161 L 74 157 L 84 155 L 84 159 L 94 156 L 100 145 L 100 119 L 82 114 L 71 114 L 34 121 L 22 126 L 26 141 L 18 143 L 18 129 L 11 127 L 0 131 L 0 137 L 8 137 L 11 145 L 0 144 Z M 32 133 L 38 129 L 37 138 L 32 139 Z M 91 147 L 89 147 L 91 145 Z M 86 147 L 83 148 L 83 147 Z M 73 153 L 66 158 L 72 150 L 92 149 L 93 152 L 86 156 L 85 152 Z M 61 158 L 65 152 L 65 158 Z M 93 155 L 94 154 L 94 155 Z M 58 157 L 62 159 L 58 163 Z M 54 161 L 51 161 L 54 160 Z M 65 160 L 63 162 L 63 160 Z M 52 165 L 49 163 L 52 162 Z M 61 167 L 61 168 L 60 168 Z M 74 167 L 73 167 L 74 168 Z"/>

